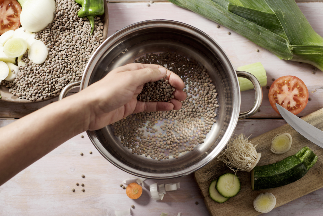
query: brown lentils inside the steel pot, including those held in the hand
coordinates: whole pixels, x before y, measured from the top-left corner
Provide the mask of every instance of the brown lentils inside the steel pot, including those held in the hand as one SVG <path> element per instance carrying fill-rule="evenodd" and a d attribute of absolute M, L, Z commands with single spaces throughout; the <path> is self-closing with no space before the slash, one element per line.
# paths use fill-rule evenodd
<path fill-rule="evenodd" d="M 146 54 L 136 62 L 160 64 L 179 75 L 185 83 L 184 92 L 187 97 L 182 101 L 180 110 L 141 112 L 113 123 L 114 135 L 120 137 L 121 144 L 131 149 L 131 153 L 158 161 L 177 159 L 193 151 L 195 146 L 204 142 L 216 122 L 216 109 L 219 108 L 216 89 L 206 69 L 194 59 L 189 60 L 175 52 Z M 146 84 L 140 94 L 141 100 L 165 101 L 162 98 L 165 97 L 165 87 L 161 87 L 164 86 L 163 82 L 160 80 Z M 164 83 L 166 82 L 168 80 Z M 166 91 L 167 89 L 173 90 L 172 87 L 167 87 Z M 148 94 L 151 95 L 147 91 L 155 93 L 152 97 L 154 100 L 151 96 L 147 97 Z M 159 95 L 158 100 L 156 94 Z M 172 96 L 171 93 L 169 95 Z M 169 99 L 170 97 L 166 97 L 167 101 Z"/>

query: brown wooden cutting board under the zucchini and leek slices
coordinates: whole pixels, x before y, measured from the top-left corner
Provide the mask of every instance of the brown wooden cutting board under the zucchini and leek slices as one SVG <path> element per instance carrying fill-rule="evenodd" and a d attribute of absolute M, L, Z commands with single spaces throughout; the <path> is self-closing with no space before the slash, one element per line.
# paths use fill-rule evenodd
<path fill-rule="evenodd" d="M 311 125 L 323 130 L 323 108 L 315 111 L 307 116 L 302 117 Z M 274 154 L 270 151 L 271 140 L 278 133 L 289 133 L 292 138 L 292 146 L 287 153 Z M 257 152 L 262 153 L 258 165 L 266 165 L 276 163 L 287 156 L 297 153 L 302 147 L 308 146 L 317 156 L 317 163 L 307 172 L 301 179 L 289 185 L 268 190 L 252 191 L 250 185 L 250 173 L 238 171 L 237 176 L 241 182 L 241 190 L 235 197 L 220 204 L 212 200 L 209 196 L 209 185 L 212 180 L 217 179 L 224 173 L 234 173 L 221 161 L 214 159 L 209 164 L 199 169 L 194 173 L 195 181 L 197 182 L 204 202 L 212 216 L 215 215 L 240 215 L 240 216 L 254 216 L 261 214 L 253 207 L 253 200 L 259 193 L 270 192 L 276 197 L 275 208 L 286 204 L 294 199 L 302 197 L 308 193 L 318 190 L 323 187 L 323 149 L 310 142 L 297 131 L 295 131 L 289 124 L 285 124 L 272 131 L 268 131 L 253 139 L 250 139 L 252 144 L 258 144 Z"/>

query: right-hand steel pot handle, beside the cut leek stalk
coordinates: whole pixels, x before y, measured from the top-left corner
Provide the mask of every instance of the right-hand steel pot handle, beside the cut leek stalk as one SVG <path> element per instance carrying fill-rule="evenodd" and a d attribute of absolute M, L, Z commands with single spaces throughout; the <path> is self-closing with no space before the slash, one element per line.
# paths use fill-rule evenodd
<path fill-rule="evenodd" d="M 243 112 L 243 113 L 240 113 L 239 114 L 239 119 L 238 120 L 241 120 L 241 119 L 245 119 L 245 118 L 248 118 L 252 115 L 254 115 L 260 108 L 260 105 L 261 105 L 261 102 L 262 102 L 262 89 L 261 89 L 261 85 L 259 83 L 259 81 L 257 80 L 257 78 L 248 73 L 248 72 L 245 72 L 245 71 L 235 71 L 237 73 L 237 76 L 238 77 L 242 77 L 242 78 L 246 78 L 248 80 L 251 81 L 252 85 L 254 85 L 255 87 L 255 103 L 254 103 L 254 106 L 249 110 L 249 111 L 246 111 L 246 112 Z"/>

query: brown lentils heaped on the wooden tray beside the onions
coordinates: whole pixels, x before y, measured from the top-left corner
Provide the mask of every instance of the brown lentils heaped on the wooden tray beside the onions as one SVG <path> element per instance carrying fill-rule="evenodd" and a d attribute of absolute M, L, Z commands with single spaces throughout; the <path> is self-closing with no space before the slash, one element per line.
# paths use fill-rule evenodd
<path fill-rule="evenodd" d="M 94 17 L 94 34 L 87 18 L 78 17 L 81 8 L 75 0 L 56 0 L 54 20 L 47 28 L 36 32 L 36 38 L 48 49 L 43 64 L 32 63 L 26 52 L 22 61 L 26 64 L 14 81 L 4 81 L 9 92 L 19 98 L 36 101 L 51 97 L 69 82 L 83 76 L 85 65 L 103 41 L 103 24 Z"/>

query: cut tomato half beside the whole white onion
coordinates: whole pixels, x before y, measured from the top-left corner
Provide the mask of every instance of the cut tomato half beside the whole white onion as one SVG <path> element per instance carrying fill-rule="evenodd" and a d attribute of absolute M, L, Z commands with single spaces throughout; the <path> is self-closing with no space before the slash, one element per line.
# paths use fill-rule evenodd
<path fill-rule="evenodd" d="M 0 34 L 20 26 L 21 7 L 16 0 L 0 0 Z"/>

